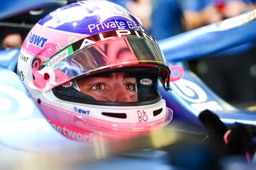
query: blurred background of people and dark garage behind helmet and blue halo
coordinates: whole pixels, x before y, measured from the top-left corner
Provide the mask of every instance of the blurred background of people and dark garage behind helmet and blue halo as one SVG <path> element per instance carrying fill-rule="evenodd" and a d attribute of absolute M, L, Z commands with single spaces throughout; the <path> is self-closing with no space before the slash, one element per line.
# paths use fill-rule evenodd
<path fill-rule="evenodd" d="M 256 8 L 256 0 L 109 0 L 136 15 L 156 40 L 219 22 Z M 19 48 L 29 30 L 47 13 L 77 2 L 61 1 L 0 20 L 0 47 Z M 192 59 L 186 66 L 215 93 L 237 107 L 256 104 L 255 42 L 212 56 Z"/>

